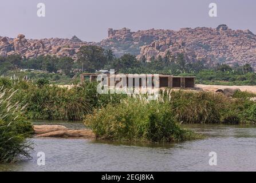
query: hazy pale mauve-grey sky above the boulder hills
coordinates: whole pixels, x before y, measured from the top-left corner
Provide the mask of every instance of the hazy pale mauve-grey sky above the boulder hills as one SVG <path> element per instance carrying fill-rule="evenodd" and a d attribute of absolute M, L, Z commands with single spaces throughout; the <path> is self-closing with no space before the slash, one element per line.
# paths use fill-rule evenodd
<path fill-rule="evenodd" d="M 37 17 L 37 3 L 45 3 L 46 17 Z M 218 17 L 208 15 L 218 5 Z M 107 29 L 132 31 L 182 27 L 216 27 L 256 33 L 255 0 L 0 0 L 0 35 L 26 38 L 71 38 L 100 41 Z"/>

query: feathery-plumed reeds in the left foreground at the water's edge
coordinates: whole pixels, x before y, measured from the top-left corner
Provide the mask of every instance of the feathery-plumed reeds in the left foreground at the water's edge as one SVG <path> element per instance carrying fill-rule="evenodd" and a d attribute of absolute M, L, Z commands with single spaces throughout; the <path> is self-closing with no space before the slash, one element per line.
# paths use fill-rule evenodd
<path fill-rule="evenodd" d="M 19 102 L 12 102 L 16 92 L 0 89 L 0 163 L 29 158 L 29 150 L 33 149 L 31 142 L 26 141 L 32 126 L 22 115 L 24 108 Z"/>

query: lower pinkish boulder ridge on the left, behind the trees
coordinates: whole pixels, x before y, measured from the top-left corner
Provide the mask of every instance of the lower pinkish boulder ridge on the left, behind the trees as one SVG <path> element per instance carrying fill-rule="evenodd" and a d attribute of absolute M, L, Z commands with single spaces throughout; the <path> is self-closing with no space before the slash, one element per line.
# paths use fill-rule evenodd
<path fill-rule="evenodd" d="M 88 44 L 76 36 L 73 36 L 72 39 L 26 39 L 25 35 L 19 34 L 14 39 L 0 37 L 0 56 L 19 54 L 25 58 L 33 58 L 52 54 L 58 57 L 68 56 L 77 59 L 76 53 L 80 47 Z"/>

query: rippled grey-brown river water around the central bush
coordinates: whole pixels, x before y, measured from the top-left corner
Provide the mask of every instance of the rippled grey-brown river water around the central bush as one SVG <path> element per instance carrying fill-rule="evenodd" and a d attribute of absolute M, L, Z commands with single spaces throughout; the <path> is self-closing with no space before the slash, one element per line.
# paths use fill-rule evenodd
<path fill-rule="evenodd" d="M 74 122 L 56 124 L 84 128 Z M 176 144 L 32 138 L 31 160 L 0 165 L 0 171 L 256 171 L 256 126 L 184 127 L 207 138 Z M 45 166 L 37 165 L 38 152 L 45 153 Z M 216 152 L 216 166 L 209 165 L 210 152 Z"/>

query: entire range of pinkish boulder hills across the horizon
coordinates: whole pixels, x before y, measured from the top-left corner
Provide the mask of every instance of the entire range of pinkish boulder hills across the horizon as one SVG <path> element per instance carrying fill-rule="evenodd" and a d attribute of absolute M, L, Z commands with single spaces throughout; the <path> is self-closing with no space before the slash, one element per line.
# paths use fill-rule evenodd
<path fill-rule="evenodd" d="M 256 35 L 250 30 L 232 30 L 227 25 L 216 29 L 197 27 L 174 30 L 139 30 L 136 32 L 123 28 L 108 29 L 108 37 L 103 41 L 84 42 L 74 36 L 72 39 L 26 39 L 19 34 L 17 38 L 0 37 L 0 55 L 21 54 L 32 58 L 38 55 L 54 54 L 77 58 L 77 51 L 83 45 L 99 45 L 112 49 L 117 57 L 125 53 L 137 58 L 164 57 L 167 53 L 174 57 L 184 53 L 188 62 L 204 60 L 208 65 L 227 63 L 244 65 L 250 63 L 256 69 Z"/>

